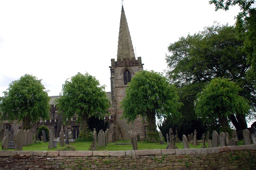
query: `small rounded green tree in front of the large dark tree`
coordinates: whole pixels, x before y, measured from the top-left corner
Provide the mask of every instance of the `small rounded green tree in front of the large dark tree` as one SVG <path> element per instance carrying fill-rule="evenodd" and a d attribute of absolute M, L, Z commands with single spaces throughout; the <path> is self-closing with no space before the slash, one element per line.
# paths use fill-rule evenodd
<path fill-rule="evenodd" d="M 224 130 L 229 128 L 230 115 L 249 112 L 249 101 L 239 95 L 242 89 L 225 78 L 215 78 L 198 93 L 195 101 L 196 114 L 205 121 L 218 120 Z"/>

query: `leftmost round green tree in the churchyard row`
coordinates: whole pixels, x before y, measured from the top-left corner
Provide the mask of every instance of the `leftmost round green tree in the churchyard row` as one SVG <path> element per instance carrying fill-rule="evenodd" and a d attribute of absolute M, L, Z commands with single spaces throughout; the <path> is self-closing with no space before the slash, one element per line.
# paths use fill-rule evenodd
<path fill-rule="evenodd" d="M 41 80 L 30 74 L 21 76 L 9 84 L 0 98 L 2 119 L 23 122 L 23 129 L 30 128 L 30 122 L 36 123 L 40 118 L 48 119 L 50 97 Z"/>

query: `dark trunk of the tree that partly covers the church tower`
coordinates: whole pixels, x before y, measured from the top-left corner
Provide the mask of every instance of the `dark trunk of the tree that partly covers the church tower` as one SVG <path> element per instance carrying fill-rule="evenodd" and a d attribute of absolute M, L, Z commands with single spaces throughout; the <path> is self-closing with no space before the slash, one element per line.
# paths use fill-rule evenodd
<path fill-rule="evenodd" d="M 158 134 L 156 130 L 156 113 L 152 112 L 150 109 L 147 109 L 147 118 L 148 118 L 148 141 L 158 142 Z"/>

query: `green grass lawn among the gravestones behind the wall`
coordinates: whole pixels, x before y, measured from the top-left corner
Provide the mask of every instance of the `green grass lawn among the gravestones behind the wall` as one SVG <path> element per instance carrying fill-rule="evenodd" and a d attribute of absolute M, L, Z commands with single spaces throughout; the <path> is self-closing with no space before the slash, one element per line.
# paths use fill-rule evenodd
<path fill-rule="evenodd" d="M 129 143 L 129 140 L 125 141 L 117 141 L 117 143 Z M 244 141 L 239 140 L 238 145 L 243 145 Z M 2 144 L 2 142 L 0 142 Z M 57 143 L 57 148 L 48 149 L 49 143 L 37 141 L 37 143 L 33 143 L 30 146 L 23 147 L 24 151 L 55 151 L 56 149 L 60 149 L 62 147 L 59 146 L 59 143 Z M 76 148 L 77 151 L 88 151 L 91 145 L 91 142 L 74 142 L 70 143 L 73 147 Z M 202 143 L 199 143 L 197 146 L 193 146 L 193 144 L 189 143 L 189 148 L 195 149 L 195 148 L 201 148 Z M 207 148 L 207 143 L 205 143 Z M 165 142 L 163 145 L 159 143 L 148 143 L 148 142 L 138 142 L 138 150 L 146 150 L 146 149 L 166 149 L 167 143 Z M 183 149 L 182 143 L 176 143 L 176 146 L 178 149 Z M 13 149 L 8 149 L 13 150 Z M 125 150 L 132 150 L 132 145 L 116 145 L 116 143 L 109 143 L 106 147 L 98 148 L 99 151 L 125 151 Z"/>

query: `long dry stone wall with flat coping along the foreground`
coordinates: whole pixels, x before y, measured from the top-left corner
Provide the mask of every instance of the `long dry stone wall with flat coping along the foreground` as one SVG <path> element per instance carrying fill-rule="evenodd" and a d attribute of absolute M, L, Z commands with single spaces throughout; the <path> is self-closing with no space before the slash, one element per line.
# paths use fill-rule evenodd
<path fill-rule="evenodd" d="M 256 145 L 136 151 L 0 151 L 0 169 L 256 169 Z"/>

